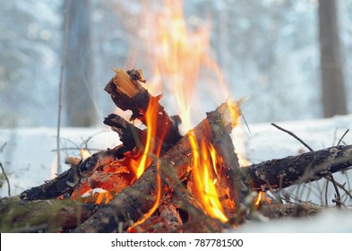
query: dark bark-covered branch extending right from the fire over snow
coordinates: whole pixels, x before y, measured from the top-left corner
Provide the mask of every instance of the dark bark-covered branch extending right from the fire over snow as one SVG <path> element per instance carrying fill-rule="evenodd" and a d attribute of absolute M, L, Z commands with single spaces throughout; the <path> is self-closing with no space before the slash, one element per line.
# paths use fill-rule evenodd
<path fill-rule="evenodd" d="M 284 188 L 352 167 L 352 145 L 333 146 L 280 160 L 253 164 L 244 170 L 253 189 Z"/>

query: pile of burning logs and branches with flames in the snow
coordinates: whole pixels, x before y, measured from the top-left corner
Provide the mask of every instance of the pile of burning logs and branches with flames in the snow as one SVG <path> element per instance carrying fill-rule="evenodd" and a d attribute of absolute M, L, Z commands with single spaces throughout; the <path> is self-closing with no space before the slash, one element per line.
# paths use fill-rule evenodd
<path fill-rule="evenodd" d="M 67 158 L 64 173 L 19 199 L 2 200 L 2 223 L 12 225 L 3 231 L 221 231 L 250 219 L 265 201 L 260 192 L 352 165 L 352 146 L 339 145 L 240 167 L 229 135 L 241 116 L 240 102 L 228 100 L 181 135 L 181 119 L 169 117 L 161 97 L 143 88 L 140 70 L 115 71 L 105 90 L 132 117 L 110 114 L 104 124 L 122 144 L 86 159 Z"/>

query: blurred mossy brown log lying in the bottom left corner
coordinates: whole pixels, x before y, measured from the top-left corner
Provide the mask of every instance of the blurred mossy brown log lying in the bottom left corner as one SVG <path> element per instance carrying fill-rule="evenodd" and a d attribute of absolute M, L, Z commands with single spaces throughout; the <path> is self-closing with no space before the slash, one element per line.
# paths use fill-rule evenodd
<path fill-rule="evenodd" d="M 73 200 L 0 200 L 0 232 L 57 232 L 73 229 L 97 212 L 99 205 Z"/>

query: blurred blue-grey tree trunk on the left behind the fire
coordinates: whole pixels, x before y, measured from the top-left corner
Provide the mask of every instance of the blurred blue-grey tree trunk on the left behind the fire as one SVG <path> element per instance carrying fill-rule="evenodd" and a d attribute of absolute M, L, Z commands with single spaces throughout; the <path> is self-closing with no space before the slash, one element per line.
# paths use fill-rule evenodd
<path fill-rule="evenodd" d="M 70 4 L 65 0 L 64 4 Z M 96 122 L 90 38 L 90 1 L 73 0 L 68 11 L 68 48 L 64 65 L 67 125 L 90 126 Z"/>

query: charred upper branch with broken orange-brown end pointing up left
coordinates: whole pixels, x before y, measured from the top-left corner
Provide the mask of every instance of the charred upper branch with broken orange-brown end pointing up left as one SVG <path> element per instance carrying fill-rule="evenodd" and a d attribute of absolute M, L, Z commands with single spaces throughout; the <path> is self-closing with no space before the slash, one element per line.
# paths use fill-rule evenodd
<path fill-rule="evenodd" d="M 107 91 L 111 99 L 115 102 L 118 108 L 123 110 L 131 110 L 131 120 L 138 118 L 144 125 L 146 123 L 146 111 L 150 104 L 150 99 L 159 100 L 159 97 L 153 97 L 142 87 L 142 82 L 146 82 L 141 70 L 131 70 L 124 72 L 121 69 L 114 69 L 116 75 L 107 83 L 105 91 Z M 157 102 L 158 119 L 156 138 L 161 139 L 166 133 L 163 142 L 169 146 L 176 143 L 181 135 L 178 132 L 177 121 L 167 115 L 165 109 Z M 167 148 L 168 148 L 167 147 Z"/>

